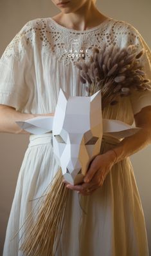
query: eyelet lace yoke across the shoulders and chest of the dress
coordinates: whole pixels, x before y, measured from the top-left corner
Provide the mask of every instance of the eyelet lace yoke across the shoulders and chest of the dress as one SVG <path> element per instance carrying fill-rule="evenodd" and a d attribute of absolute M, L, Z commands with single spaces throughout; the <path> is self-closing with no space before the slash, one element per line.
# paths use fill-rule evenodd
<path fill-rule="evenodd" d="M 8 44 L 4 55 L 21 57 L 26 48 L 40 49 L 40 52 L 55 56 L 64 64 L 88 61 L 92 48 L 110 45 L 132 44 L 139 39 L 137 30 L 125 21 L 110 19 L 89 30 L 78 31 L 58 25 L 51 17 L 28 21 Z"/>

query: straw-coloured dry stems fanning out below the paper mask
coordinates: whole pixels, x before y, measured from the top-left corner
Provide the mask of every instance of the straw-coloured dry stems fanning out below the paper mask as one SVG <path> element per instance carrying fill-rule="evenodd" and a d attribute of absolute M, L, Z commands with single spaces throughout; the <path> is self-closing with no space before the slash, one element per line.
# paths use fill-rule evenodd
<path fill-rule="evenodd" d="M 64 224 L 68 190 L 58 169 L 55 180 L 40 206 L 36 221 L 27 231 L 19 250 L 27 256 L 54 256 Z"/>

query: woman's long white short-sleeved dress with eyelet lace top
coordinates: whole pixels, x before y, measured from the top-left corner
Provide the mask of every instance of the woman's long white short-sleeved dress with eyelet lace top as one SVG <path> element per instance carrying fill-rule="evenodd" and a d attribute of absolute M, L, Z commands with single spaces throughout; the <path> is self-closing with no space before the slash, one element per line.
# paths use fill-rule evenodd
<path fill-rule="evenodd" d="M 22 113 L 51 113 L 55 112 L 60 88 L 68 95 L 87 95 L 85 84 L 79 80 L 74 50 L 83 49 L 87 61 L 93 46 L 102 48 L 105 42 L 121 48 L 129 44 L 137 44 L 138 50 L 144 47 L 142 62 L 151 78 L 150 48 L 129 23 L 111 18 L 82 32 L 60 26 L 51 17 L 39 18 L 22 27 L 1 57 L 0 104 L 13 106 Z M 106 107 L 103 117 L 132 124 L 134 114 L 147 105 L 151 105 L 150 91 L 136 92 Z M 35 205 L 30 200 L 42 195 L 57 172 L 50 141 L 50 133 L 30 135 L 17 179 L 3 256 L 23 255 L 19 247 L 24 228 L 13 241 L 10 239 Z M 116 143 L 103 140 L 100 152 Z M 84 197 L 87 215 L 82 213 L 78 194 L 70 191 L 56 256 L 149 255 L 145 217 L 129 157 L 113 166 L 102 187 Z"/>

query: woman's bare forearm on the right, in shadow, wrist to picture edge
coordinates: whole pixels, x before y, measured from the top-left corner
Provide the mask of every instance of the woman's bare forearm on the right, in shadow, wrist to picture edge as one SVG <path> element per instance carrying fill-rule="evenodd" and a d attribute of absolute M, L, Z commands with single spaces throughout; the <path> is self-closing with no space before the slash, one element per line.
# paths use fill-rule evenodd
<path fill-rule="evenodd" d="M 150 128 L 142 128 L 134 135 L 130 137 L 126 137 L 117 146 L 113 148 L 117 155 L 117 159 L 115 163 L 123 160 L 125 157 L 129 157 L 130 155 L 133 155 L 139 150 L 145 148 L 150 143 L 151 143 Z M 109 150 L 109 153 L 114 155 L 115 157 L 114 151 Z"/>

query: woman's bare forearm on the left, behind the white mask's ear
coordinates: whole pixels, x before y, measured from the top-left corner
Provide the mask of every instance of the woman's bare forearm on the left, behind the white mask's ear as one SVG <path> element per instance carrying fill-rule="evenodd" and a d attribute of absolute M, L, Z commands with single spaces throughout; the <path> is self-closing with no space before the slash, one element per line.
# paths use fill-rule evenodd
<path fill-rule="evenodd" d="M 52 113 L 53 114 L 53 113 Z M 21 113 L 15 110 L 10 106 L 0 106 L 0 132 L 4 133 L 15 133 L 15 134 L 31 134 L 19 127 L 15 121 L 24 121 L 37 117 L 40 115 L 51 115 L 50 114 L 30 114 L 30 113 Z"/>

